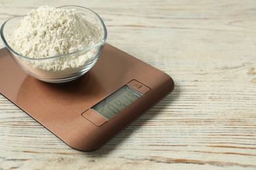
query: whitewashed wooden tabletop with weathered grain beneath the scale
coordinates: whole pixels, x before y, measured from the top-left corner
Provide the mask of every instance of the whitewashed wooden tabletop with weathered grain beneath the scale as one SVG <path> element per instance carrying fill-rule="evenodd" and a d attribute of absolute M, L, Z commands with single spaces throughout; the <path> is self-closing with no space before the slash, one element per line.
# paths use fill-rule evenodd
<path fill-rule="evenodd" d="M 255 0 L 1 0 L 0 23 L 41 5 L 95 10 L 108 43 L 176 86 L 94 152 L 70 148 L 0 95 L 0 169 L 256 169 Z"/>

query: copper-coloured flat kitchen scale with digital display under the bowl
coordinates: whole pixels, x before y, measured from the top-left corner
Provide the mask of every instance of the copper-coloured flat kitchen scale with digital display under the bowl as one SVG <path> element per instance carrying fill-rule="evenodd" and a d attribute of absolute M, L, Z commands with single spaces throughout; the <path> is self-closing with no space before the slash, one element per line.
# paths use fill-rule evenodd
<path fill-rule="evenodd" d="M 172 92 L 162 71 L 106 44 L 95 66 L 64 84 L 27 75 L 0 50 L 0 92 L 77 150 L 96 150 Z"/>

